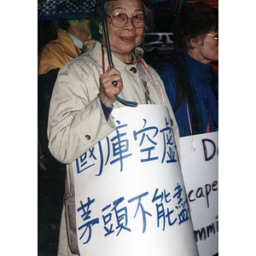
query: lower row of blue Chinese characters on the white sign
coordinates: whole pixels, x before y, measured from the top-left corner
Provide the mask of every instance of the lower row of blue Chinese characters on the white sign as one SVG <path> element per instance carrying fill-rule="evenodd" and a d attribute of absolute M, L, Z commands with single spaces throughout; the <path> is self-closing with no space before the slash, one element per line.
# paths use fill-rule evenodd
<path fill-rule="evenodd" d="M 93 211 L 92 203 L 95 199 L 90 200 L 88 197 L 84 201 L 80 201 L 80 207 L 77 211 L 80 213 L 83 224 L 78 227 L 79 240 L 82 240 L 84 244 L 89 242 L 93 225 L 99 224 L 100 222 L 102 222 L 103 228 L 106 231 L 104 236 L 110 236 L 112 234 L 119 236 L 121 231 L 131 232 L 131 228 L 128 225 L 128 214 L 132 214 L 133 218 L 141 218 L 143 222 L 142 233 L 147 230 L 147 215 L 148 218 L 152 218 L 154 213 L 156 213 L 154 216 L 156 227 L 163 231 L 167 228 L 167 225 L 172 227 L 174 224 L 180 225 L 189 220 L 188 201 L 183 189 L 178 183 L 172 193 L 166 193 L 166 189 L 161 192 L 159 189 L 155 189 L 154 195 L 150 197 L 152 204 L 154 204 L 155 212 L 147 212 L 147 209 L 143 206 L 143 197 L 145 196 L 150 197 L 148 192 L 137 195 L 127 201 L 125 197 L 120 197 L 107 206 L 104 206 L 102 208 L 102 216 L 94 219 L 90 218 L 90 213 Z M 171 201 L 175 201 L 175 207 L 169 207 Z M 131 203 L 137 203 L 136 212 L 129 211 L 129 204 Z"/>

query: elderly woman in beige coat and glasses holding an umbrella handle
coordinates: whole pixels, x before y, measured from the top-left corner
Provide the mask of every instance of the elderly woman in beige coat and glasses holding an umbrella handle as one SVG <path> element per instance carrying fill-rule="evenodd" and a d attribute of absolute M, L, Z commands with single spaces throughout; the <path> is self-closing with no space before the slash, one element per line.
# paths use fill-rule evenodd
<path fill-rule="evenodd" d="M 115 130 L 112 109 L 125 107 L 116 100 L 116 95 L 138 104 L 166 105 L 178 143 L 177 123 L 164 84 L 137 49 L 148 26 L 148 9 L 140 0 L 107 1 L 104 8 L 114 67 L 108 67 L 103 36 L 101 43 L 96 41 L 86 54 L 61 68 L 51 97 L 49 150 L 67 164 L 67 173 L 73 160 Z M 102 24 L 97 32 L 104 34 Z M 137 68 L 138 61 L 143 62 L 144 72 Z M 73 255 L 66 229 L 62 213 L 58 254 L 61 256 Z"/>

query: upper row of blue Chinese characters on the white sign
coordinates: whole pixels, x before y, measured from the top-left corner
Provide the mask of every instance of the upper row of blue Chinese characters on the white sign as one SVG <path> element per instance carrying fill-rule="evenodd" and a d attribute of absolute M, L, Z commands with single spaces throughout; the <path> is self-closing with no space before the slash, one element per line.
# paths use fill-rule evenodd
<path fill-rule="evenodd" d="M 111 139 L 106 137 L 106 139 L 103 140 L 105 141 L 104 143 L 106 143 L 106 155 L 104 155 L 102 151 L 103 142 L 97 143 L 95 147 L 90 148 L 76 160 L 78 173 L 84 172 L 90 168 L 95 168 L 96 162 L 100 163 L 96 176 L 101 176 L 104 166 L 108 164 L 112 166 L 119 163 L 119 171 L 123 172 L 125 159 L 129 160 L 129 158 L 132 158 L 129 148 L 130 141 L 125 131 L 128 125 L 121 125 L 119 120 L 116 122 L 118 125 L 114 131 L 115 135 Z M 156 149 L 158 143 L 154 140 L 155 137 L 162 139 L 161 145 L 164 145 L 164 147 Z M 166 161 L 166 163 L 177 162 L 172 128 L 167 119 L 165 119 L 165 127 L 161 130 L 156 126 L 148 126 L 147 119 L 143 119 L 142 129 L 133 131 L 131 138 L 134 142 L 137 142 L 138 147 L 136 153 L 139 155 L 142 163 L 155 160 L 159 160 L 160 164 L 164 161 Z M 109 160 L 110 155 L 112 155 L 113 159 L 111 161 Z"/>

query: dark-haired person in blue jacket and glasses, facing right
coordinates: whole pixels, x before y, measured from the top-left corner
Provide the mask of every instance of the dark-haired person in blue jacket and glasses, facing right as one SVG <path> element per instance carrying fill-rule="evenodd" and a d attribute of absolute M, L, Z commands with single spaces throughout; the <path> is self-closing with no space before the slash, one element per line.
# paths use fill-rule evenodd
<path fill-rule="evenodd" d="M 180 137 L 218 131 L 218 9 L 183 4 L 177 20 L 177 54 L 158 69 Z"/>

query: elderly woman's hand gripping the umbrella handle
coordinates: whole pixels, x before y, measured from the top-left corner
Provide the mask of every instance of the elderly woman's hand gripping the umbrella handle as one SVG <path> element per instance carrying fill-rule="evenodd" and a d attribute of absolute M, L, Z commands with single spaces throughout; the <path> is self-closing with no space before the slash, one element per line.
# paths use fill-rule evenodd
<path fill-rule="evenodd" d="M 118 95 L 121 90 L 123 90 L 123 81 L 119 71 L 114 67 L 108 67 L 107 72 L 100 76 L 100 96 L 108 104 L 113 105 L 116 101 L 115 95 Z"/>

